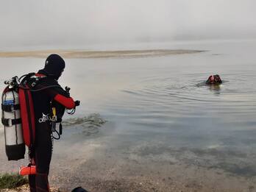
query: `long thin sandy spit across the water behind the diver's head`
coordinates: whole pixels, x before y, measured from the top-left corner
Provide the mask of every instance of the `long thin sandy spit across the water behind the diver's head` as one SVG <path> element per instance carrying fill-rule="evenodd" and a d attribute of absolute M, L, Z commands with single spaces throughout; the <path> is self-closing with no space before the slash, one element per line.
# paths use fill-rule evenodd
<path fill-rule="evenodd" d="M 57 53 L 65 58 L 120 58 L 120 57 L 160 57 L 171 54 L 194 54 L 202 51 L 185 49 L 152 49 L 124 51 L 79 51 L 79 50 L 46 50 L 46 51 L 10 51 L 0 52 L 0 57 L 47 57 Z"/>

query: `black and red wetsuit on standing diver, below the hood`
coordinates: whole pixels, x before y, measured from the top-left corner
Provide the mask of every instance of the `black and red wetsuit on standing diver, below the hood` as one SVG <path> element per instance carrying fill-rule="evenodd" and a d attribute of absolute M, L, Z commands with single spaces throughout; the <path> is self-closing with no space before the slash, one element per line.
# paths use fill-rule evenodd
<path fill-rule="evenodd" d="M 36 174 L 29 175 L 29 187 L 32 192 L 49 191 L 49 166 L 51 162 L 51 121 L 46 116 L 52 114 L 52 104 L 58 104 L 59 108 L 72 109 L 75 107 L 74 100 L 63 88 L 60 87 L 54 77 L 47 76 L 45 71 L 40 70 L 36 76 L 45 76 L 35 85 L 35 90 L 49 87 L 44 90 L 32 92 L 35 110 L 35 146 L 32 149 L 32 157 L 35 160 Z"/>

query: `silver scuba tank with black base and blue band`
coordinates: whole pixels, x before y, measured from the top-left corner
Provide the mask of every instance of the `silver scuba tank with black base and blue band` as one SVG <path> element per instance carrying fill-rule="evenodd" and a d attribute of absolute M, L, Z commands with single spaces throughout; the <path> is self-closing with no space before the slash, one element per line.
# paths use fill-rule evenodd
<path fill-rule="evenodd" d="M 4 125 L 5 151 L 8 160 L 24 159 L 25 144 L 18 93 L 15 89 L 7 87 L 1 96 L 1 101 L 1 122 Z"/>

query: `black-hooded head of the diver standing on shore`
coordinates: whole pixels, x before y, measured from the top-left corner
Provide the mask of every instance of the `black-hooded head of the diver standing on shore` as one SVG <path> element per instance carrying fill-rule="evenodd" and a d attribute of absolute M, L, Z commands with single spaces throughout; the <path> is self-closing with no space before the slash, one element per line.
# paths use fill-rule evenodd
<path fill-rule="evenodd" d="M 43 71 L 46 75 L 54 77 L 54 79 L 59 79 L 65 68 L 65 61 L 58 54 L 50 54 L 46 58 L 46 63 L 44 65 Z"/>

